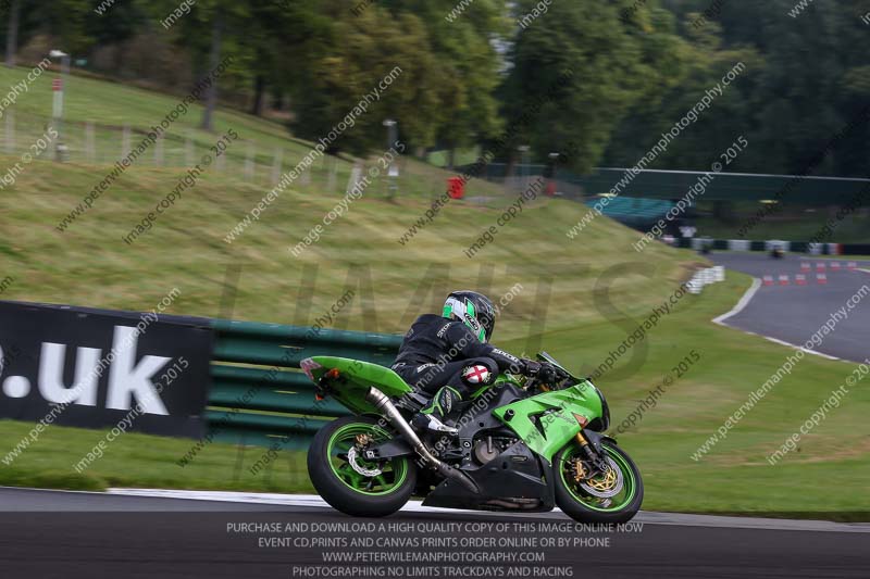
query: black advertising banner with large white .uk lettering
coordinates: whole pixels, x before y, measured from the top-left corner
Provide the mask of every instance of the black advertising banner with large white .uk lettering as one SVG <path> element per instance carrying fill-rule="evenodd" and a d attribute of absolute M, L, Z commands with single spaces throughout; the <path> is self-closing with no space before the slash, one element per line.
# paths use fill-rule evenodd
<path fill-rule="evenodd" d="M 206 318 L 0 301 L 0 418 L 200 437 Z"/>

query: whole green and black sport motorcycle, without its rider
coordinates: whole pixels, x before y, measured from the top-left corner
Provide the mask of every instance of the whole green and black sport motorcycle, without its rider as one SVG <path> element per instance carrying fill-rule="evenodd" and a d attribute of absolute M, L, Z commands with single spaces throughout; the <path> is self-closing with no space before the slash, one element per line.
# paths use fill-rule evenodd
<path fill-rule="evenodd" d="M 546 512 L 581 523 L 625 523 L 641 508 L 634 462 L 605 432 L 610 411 L 588 378 L 561 370 L 556 383 L 500 375 L 451 413 L 451 432 L 417 432 L 410 418 L 430 400 L 389 368 L 313 356 L 301 367 L 319 399 L 353 412 L 324 426 L 308 451 L 314 488 L 334 508 L 382 517 L 412 494 L 423 505 Z"/>

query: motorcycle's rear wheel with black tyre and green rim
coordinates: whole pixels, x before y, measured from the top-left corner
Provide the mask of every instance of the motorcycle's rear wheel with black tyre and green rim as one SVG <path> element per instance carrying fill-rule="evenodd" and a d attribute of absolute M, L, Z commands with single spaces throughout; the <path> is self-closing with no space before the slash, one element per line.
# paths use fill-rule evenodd
<path fill-rule="evenodd" d="M 373 417 L 346 416 L 333 420 L 311 442 L 308 475 L 320 495 L 341 513 L 357 517 L 390 515 L 411 496 L 417 484 L 417 464 L 409 456 L 377 463 L 364 461 L 355 448 L 360 435 L 368 435 L 374 442 L 394 436 Z"/>

